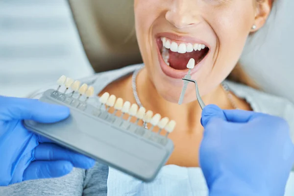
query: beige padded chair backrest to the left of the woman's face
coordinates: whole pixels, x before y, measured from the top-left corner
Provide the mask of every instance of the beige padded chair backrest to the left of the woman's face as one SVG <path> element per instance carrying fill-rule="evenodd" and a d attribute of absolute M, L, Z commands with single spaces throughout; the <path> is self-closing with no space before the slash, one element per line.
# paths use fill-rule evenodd
<path fill-rule="evenodd" d="M 68 0 L 86 55 L 96 72 L 141 63 L 133 0 Z"/>

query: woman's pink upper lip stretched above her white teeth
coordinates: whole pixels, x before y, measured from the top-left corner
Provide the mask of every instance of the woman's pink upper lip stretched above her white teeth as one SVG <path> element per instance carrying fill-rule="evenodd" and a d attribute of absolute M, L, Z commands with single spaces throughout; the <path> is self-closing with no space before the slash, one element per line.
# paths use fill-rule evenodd
<path fill-rule="evenodd" d="M 206 47 L 210 48 L 209 44 L 203 40 L 190 37 L 190 36 L 183 36 L 183 35 L 177 35 L 170 32 L 163 32 L 156 34 L 156 37 L 166 37 L 172 41 L 178 42 L 178 43 L 196 43 L 196 44 L 204 44 Z"/>

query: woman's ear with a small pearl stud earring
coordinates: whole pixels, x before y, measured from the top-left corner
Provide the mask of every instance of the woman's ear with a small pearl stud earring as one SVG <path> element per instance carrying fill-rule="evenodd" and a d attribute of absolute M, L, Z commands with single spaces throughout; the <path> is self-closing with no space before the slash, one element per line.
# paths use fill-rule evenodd
<path fill-rule="evenodd" d="M 257 31 L 266 23 L 270 15 L 272 2 L 273 0 L 256 0 L 256 11 L 254 19 L 254 25 L 256 28 L 252 29 L 252 32 Z"/>

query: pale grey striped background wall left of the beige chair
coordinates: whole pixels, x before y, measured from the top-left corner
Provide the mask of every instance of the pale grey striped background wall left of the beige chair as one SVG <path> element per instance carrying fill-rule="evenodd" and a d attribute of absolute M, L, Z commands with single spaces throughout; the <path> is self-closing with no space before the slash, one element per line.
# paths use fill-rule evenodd
<path fill-rule="evenodd" d="M 92 72 L 65 0 L 0 0 L 0 95 Z"/>

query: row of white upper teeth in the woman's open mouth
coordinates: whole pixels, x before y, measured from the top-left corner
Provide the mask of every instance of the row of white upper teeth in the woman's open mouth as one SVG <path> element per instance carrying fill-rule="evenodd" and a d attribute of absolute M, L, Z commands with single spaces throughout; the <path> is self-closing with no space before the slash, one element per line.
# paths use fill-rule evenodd
<path fill-rule="evenodd" d="M 161 38 L 161 41 L 162 41 L 163 46 L 166 49 L 171 49 L 173 52 L 178 52 L 178 53 L 192 52 L 193 50 L 200 51 L 201 49 L 206 48 L 206 46 L 204 44 L 191 44 L 191 43 L 177 44 L 176 42 L 172 42 L 165 37 Z"/>

